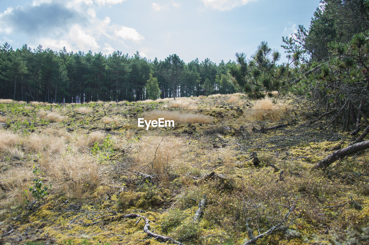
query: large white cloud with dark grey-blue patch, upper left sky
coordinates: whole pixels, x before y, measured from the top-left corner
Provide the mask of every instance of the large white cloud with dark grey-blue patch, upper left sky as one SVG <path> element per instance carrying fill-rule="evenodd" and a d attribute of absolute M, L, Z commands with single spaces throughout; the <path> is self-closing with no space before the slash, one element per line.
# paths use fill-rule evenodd
<path fill-rule="evenodd" d="M 96 17 L 96 4 L 125 0 L 34 0 L 32 4 L 0 12 L 0 35 L 7 40 L 22 34 L 30 46 L 70 51 L 114 52 L 109 40 L 139 42 L 144 36 L 134 28 L 112 24 L 109 17 Z M 45 21 L 44 15 L 47 15 Z M 34 27 L 34 28 L 29 28 Z M 123 43 L 126 46 L 125 43 Z"/>

